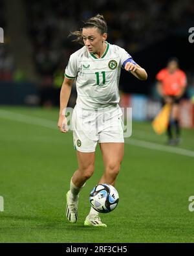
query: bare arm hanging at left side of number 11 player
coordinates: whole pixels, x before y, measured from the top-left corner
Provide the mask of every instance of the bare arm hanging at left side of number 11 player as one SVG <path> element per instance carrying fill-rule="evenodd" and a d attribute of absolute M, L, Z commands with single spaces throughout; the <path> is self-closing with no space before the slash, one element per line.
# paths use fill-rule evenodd
<path fill-rule="evenodd" d="M 65 109 L 67 108 L 73 82 L 74 79 L 65 77 L 61 87 L 58 128 L 61 132 L 64 133 L 67 132 L 67 119 L 65 117 Z"/>

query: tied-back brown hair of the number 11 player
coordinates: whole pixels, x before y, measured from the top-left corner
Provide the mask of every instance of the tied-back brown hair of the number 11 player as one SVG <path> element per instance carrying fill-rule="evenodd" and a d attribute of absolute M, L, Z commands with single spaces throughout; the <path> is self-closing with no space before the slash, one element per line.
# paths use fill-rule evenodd
<path fill-rule="evenodd" d="M 83 27 L 80 29 L 80 31 L 70 32 L 69 36 L 76 36 L 76 39 L 72 41 L 77 41 L 78 43 L 81 43 L 81 45 L 83 45 L 82 29 L 89 27 L 98 28 L 100 34 L 107 33 L 107 22 L 105 21 L 103 15 L 98 14 L 83 22 Z"/>

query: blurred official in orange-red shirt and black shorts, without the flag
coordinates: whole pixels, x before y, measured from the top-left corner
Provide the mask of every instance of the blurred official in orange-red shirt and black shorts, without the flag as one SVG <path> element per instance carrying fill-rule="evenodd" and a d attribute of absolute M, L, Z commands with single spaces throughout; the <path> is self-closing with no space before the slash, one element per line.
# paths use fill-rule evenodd
<path fill-rule="evenodd" d="M 157 89 L 162 97 L 162 104 L 171 104 L 171 115 L 167 126 L 167 143 L 177 145 L 180 143 L 179 103 L 186 89 L 186 73 L 178 68 L 177 58 L 170 58 L 167 67 L 158 72 L 156 79 L 158 80 Z M 175 138 L 173 138 L 173 128 L 175 128 Z"/>

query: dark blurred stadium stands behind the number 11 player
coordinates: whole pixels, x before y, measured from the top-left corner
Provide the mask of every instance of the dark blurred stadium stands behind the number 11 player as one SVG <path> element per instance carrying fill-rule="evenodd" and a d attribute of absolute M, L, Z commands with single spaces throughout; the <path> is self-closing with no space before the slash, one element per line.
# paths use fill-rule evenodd
<path fill-rule="evenodd" d="M 108 41 L 124 47 L 148 73 L 142 84 L 122 71 L 122 91 L 154 97 L 155 75 L 171 56 L 180 60 L 189 86 L 194 86 L 194 44 L 188 40 L 194 22 L 193 1 L 1 0 L 5 43 L 0 45 L 0 104 L 58 106 L 69 55 L 80 47 L 68 34 L 98 13 L 107 20 Z M 14 93 L 17 100 L 9 94 L 15 82 L 20 84 L 20 97 Z M 22 86 L 26 82 L 30 83 Z M 28 94 L 31 97 L 25 97 Z"/>

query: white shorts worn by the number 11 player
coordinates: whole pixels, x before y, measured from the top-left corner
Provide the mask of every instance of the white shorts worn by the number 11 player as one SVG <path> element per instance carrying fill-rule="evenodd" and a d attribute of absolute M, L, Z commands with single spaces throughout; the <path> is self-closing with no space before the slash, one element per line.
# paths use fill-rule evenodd
<path fill-rule="evenodd" d="M 72 113 L 74 148 L 95 152 L 98 143 L 124 143 L 124 124 L 119 106 L 105 110 L 82 110 Z"/>

